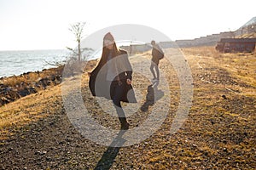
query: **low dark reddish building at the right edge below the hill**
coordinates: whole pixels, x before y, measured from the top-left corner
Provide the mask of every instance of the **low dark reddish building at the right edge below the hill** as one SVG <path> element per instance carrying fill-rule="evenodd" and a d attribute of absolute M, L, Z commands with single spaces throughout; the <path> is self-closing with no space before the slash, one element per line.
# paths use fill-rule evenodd
<path fill-rule="evenodd" d="M 252 53 L 256 38 L 222 38 L 215 47 L 221 53 Z"/>

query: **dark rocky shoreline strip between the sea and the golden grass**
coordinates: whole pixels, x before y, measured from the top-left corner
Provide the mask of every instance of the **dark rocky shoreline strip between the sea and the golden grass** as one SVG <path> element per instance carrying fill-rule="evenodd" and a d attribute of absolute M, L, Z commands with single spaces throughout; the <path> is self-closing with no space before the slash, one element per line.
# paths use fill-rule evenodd
<path fill-rule="evenodd" d="M 0 106 L 61 83 L 64 66 L 0 78 Z"/>

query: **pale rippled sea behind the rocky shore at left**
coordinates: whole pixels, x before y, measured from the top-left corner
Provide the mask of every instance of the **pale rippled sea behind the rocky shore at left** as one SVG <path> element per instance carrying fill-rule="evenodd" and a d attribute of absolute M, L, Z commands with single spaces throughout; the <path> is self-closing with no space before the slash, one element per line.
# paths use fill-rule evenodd
<path fill-rule="evenodd" d="M 0 51 L 0 77 L 53 68 L 55 63 L 65 64 L 70 57 L 67 49 Z"/>

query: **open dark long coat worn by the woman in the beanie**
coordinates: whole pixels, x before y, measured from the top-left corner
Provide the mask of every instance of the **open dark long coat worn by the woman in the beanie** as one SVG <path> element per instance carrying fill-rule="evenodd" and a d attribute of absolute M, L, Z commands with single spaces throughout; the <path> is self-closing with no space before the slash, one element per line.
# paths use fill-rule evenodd
<path fill-rule="evenodd" d="M 135 94 L 131 85 L 126 83 L 126 79 L 131 79 L 131 64 L 128 59 L 128 54 L 125 50 L 119 49 L 119 55 L 114 57 L 119 73 L 119 82 L 125 84 L 125 91 L 121 101 L 128 103 L 137 103 Z M 112 83 L 107 81 L 108 66 L 106 65 L 106 57 L 102 57 L 96 68 L 90 73 L 89 87 L 93 96 L 105 97 L 106 99 L 113 99 Z M 116 78 L 115 78 L 116 79 Z M 116 82 L 115 82 L 116 83 Z"/>

